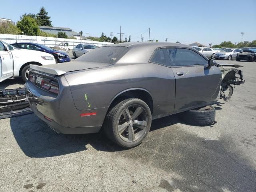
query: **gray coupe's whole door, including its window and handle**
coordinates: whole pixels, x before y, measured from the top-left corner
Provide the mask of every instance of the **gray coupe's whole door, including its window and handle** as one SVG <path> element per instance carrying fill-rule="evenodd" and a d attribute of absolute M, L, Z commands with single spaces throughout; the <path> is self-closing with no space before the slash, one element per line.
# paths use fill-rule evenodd
<path fill-rule="evenodd" d="M 206 105 L 218 96 L 221 71 L 188 48 L 168 48 L 175 82 L 175 111 Z"/>

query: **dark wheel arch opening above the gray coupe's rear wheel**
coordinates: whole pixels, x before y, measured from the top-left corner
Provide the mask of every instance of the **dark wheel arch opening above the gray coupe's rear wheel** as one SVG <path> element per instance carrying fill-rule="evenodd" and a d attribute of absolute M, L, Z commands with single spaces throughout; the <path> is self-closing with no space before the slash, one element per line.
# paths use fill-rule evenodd
<path fill-rule="evenodd" d="M 111 110 L 113 106 L 127 98 L 138 98 L 143 100 L 149 106 L 150 111 L 153 114 L 152 94 L 144 88 L 130 88 L 119 92 L 110 101 L 108 110 Z"/>

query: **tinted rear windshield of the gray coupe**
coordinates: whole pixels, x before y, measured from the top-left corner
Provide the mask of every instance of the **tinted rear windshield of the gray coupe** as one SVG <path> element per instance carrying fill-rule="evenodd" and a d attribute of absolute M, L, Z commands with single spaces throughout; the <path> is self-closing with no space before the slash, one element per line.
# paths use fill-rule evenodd
<path fill-rule="evenodd" d="M 99 47 L 88 51 L 76 60 L 114 64 L 123 56 L 126 50 L 128 50 L 128 48 L 122 46 Z"/>

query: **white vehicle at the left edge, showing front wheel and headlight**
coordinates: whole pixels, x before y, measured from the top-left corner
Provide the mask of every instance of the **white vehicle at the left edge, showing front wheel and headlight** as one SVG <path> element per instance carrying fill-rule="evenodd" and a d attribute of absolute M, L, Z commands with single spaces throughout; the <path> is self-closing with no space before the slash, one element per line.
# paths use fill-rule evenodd
<path fill-rule="evenodd" d="M 54 64 L 54 56 L 46 52 L 19 49 L 0 40 L 0 82 L 22 76 L 28 79 L 29 65 Z"/>

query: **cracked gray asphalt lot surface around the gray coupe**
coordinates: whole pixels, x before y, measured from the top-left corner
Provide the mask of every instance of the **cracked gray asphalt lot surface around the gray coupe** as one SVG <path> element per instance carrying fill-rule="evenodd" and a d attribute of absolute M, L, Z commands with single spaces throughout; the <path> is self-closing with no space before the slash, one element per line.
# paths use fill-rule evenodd
<path fill-rule="evenodd" d="M 160 118 L 129 150 L 102 132 L 57 134 L 34 114 L 0 120 L 0 191 L 255 192 L 256 63 L 217 62 L 243 65 L 246 82 L 214 105 L 216 123 Z"/>

